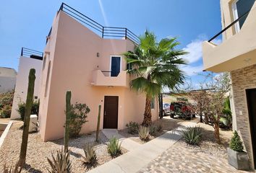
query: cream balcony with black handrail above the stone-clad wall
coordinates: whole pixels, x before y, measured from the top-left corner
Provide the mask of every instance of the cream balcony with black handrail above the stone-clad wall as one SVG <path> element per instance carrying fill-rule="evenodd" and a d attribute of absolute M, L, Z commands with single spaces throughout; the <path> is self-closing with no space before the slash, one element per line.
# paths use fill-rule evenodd
<path fill-rule="evenodd" d="M 236 22 L 246 17 L 241 30 L 220 45 L 212 43 L 216 37 L 234 27 Z M 202 59 L 205 71 L 234 71 L 256 63 L 256 5 L 216 36 L 202 43 Z"/>

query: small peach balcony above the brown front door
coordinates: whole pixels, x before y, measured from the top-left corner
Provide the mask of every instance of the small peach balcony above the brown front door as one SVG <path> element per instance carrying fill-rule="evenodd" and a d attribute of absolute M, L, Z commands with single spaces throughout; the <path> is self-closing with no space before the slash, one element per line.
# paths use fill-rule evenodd
<path fill-rule="evenodd" d="M 111 71 L 93 71 L 93 86 L 124 86 L 129 87 L 129 74 L 120 71 L 118 76 L 111 76 Z"/>

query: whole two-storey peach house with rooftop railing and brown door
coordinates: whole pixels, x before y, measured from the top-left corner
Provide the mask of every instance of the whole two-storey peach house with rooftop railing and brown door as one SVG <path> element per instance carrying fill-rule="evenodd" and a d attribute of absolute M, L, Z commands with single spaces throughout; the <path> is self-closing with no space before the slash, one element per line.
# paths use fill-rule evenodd
<path fill-rule="evenodd" d="M 73 16 L 73 17 L 72 17 Z M 98 105 L 101 129 L 123 129 L 129 121 L 142 123 L 145 95 L 132 92 L 122 54 L 133 50 L 137 36 L 127 28 L 103 27 L 62 4 L 47 37 L 40 86 L 39 123 L 43 141 L 64 136 L 66 92 L 72 103 L 90 107 L 81 133 L 96 130 Z M 158 100 L 152 104 L 158 119 Z"/>

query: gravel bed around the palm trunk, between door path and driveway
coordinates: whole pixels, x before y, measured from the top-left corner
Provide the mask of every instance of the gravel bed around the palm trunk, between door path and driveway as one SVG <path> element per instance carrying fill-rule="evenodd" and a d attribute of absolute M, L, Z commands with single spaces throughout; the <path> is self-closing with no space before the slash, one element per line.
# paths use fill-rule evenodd
<path fill-rule="evenodd" d="M 163 117 L 163 119 L 156 120 L 153 122 L 154 125 L 162 125 L 163 130 L 161 132 L 157 132 L 155 136 L 150 136 L 150 140 L 153 140 L 154 138 L 157 138 L 158 136 L 163 135 L 163 133 L 166 133 L 166 131 L 174 130 L 174 128 L 177 128 L 179 126 L 179 123 L 182 122 L 182 120 L 177 119 L 171 119 L 170 117 Z M 139 134 L 130 134 L 128 133 L 127 128 L 124 130 L 119 130 L 119 134 L 121 136 L 124 136 L 125 138 L 130 138 L 133 141 L 137 143 L 147 143 L 148 141 L 142 141 L 140 140 Z"/>

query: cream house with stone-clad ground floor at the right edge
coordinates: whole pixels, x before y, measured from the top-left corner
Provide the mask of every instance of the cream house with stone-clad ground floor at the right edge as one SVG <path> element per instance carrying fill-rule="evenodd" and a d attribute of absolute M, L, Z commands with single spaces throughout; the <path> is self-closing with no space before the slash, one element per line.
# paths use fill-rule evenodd
<path fill-rule="evenodd" d="M 223 42 L 214 44 L 216 35 L 202 44 L 204 68 L 230 72 L 234 130 L 242 136 L 250 166 L 256 168 L 255 0 L 221 0 L 221 21 Z"/>

